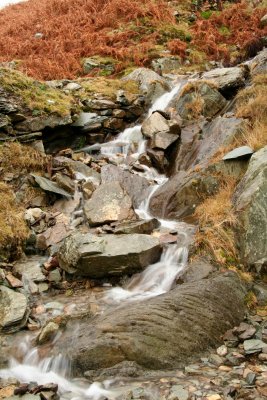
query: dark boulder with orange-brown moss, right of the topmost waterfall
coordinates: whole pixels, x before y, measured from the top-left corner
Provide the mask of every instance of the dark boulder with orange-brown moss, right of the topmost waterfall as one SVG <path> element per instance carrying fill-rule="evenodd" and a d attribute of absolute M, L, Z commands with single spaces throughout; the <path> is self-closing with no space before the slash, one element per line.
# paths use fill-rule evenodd
<path fill-rule="evenodd" d="M 184 120 L 197 119 L 200 115 L 214 117 L 226 104 L 226 99 L 212 84 L 202 81 L 188 83 L 172 101 L 172 106 Z"/>

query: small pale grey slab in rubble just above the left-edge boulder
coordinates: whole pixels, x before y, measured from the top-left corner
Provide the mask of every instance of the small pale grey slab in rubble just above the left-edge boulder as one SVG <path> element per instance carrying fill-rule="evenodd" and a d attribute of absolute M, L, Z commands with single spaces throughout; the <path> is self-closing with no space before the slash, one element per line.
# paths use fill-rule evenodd
<path fill-rule="evenodd" d="M 33 282 L 44 282 L 45 275 L 42 272 L 41 265 L 45 258 L 39 256 L 32 256 L 25 260 L 17 261 L 14 265 L 14 272 L 21 277 Z"/>

